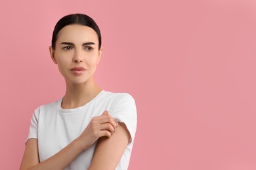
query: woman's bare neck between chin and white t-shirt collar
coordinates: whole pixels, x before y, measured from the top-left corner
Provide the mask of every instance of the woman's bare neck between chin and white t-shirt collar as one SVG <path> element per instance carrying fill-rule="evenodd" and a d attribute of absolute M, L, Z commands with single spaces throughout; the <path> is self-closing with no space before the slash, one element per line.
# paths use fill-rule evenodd
<path fill-rule="evenodd" d="M 101 92 L 94 80 L 88 80 L 83 84 L 66 82 L 66 93 L 62 99 L 62 109 L 81 107 L 91 101 Z"/>

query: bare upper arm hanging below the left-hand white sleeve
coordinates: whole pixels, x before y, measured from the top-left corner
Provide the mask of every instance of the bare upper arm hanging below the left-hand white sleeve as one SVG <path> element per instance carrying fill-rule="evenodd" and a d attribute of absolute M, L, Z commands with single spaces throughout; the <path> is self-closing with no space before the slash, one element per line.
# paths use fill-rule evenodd
<path fill-rule="evenodd" d="M 28 169 L 39 163 L 37 139 L 28 139 L 26 142 L 25 152 L 20 165 L 21 169 Z"/>

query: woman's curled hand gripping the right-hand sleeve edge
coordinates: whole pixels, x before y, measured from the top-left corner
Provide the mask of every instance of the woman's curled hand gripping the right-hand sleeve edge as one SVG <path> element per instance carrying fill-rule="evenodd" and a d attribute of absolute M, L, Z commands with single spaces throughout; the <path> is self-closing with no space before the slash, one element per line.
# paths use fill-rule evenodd
<path fill-rule="evenodd" d="M 83 150 L 89 148 L 100 137 L 111 137 L 116 131 L 117 122 L 105 110 L 102 115 L 93 117 L 86 129 L 77 138 Z"/>

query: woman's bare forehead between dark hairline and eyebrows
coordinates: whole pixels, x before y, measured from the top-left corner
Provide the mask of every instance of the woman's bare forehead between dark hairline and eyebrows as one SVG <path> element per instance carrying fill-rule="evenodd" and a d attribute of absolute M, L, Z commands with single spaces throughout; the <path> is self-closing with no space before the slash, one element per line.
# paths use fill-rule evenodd
<path fill-rule="evenodd" d="M 84 42 L 95 42 L 98 44 L 98 35 L 96 34 L 95 30 L 91 27 L 87 27 L 85 25 L 66 25 L 57 35 L 57 44 L 58 42 L 74 42 L 74 43 L 81 43 Z"/>

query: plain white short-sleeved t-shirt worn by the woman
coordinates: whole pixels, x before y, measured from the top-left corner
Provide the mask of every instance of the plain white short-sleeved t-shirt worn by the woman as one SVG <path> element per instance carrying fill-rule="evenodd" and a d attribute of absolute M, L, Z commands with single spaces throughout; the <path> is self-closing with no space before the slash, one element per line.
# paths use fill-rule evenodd
<path fill-rule="evenodd" d="M 39 160 L 50 158 L 66 145 L 74 141 L 87 127 L 91 119 L 100 116 L 104 110 L 124 122 L 131 135 L 116 169 L 127 169 L 137 128 L 137 109 L 135 100 L 128 93 L 111 93 L 102 90 L 86 105 L 75 109 L 62 109 L 62 99 L 38 107 L 31 120 L 28 139 L 38 141 Z M 88 169 L 93 159 L 96 143 L 84 150 L 65 170 Z"/>

